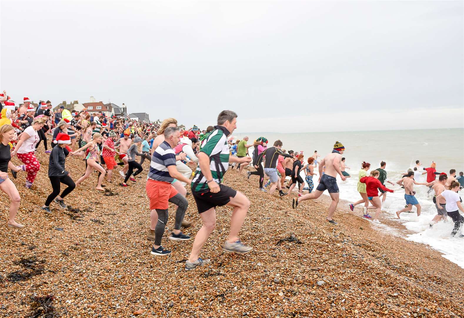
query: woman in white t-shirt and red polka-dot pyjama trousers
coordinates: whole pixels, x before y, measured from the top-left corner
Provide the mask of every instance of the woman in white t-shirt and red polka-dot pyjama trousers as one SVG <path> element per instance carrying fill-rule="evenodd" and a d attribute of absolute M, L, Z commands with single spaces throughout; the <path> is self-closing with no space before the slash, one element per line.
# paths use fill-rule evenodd
<path fill-rule="evenodd" d="M 22 171 L 27 171 L 26 188 L 30 189 L 34 182 L 35 176 L 40 169 L 39 159 L 35 156 L 35 145 L 39 142 L 39 133 L 45 124 L 45 118 L 39 117 L 32 121 L 32 125 L 27 127 L 19 136 L 19 141 L 16 144 L 11 156 L 18 156 L 24 165 L 19 166 Z"/>

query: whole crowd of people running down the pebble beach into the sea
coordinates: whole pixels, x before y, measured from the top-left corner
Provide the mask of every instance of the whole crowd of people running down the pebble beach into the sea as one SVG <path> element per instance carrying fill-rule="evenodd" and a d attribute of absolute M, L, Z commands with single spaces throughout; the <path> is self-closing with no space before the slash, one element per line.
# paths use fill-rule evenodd
<path fill-rule="evenodd" d="M 303 152 L 283 150 L 281 140 L 274 141 L 269 147 L 268 140 L 264 137 L 254 140 L 251 145 L 247 144 L 248 137 L 232 140 L 231 134 L 237 126 L 238 116 L 229 110 L 219 113 L 216 126 L 209 126 L 206 130 L 200 131 L 197 126 L 189 130 L 181 129 L 174 118 L 165 119 L 161 125 L 156 125 L 131 119 L 108 118 L 103 113 L 89 113 L 86 110 L 64 111 L 63 106 L 53 112 L 49 101 L 40 102 L 34 107 L 27 97 L 23 99 L 20 107 L 16 107 L 6 92 L 0 94 L 0 102 L 0 189 L 11 199 L 8 228 L 24 228 L 24 225 L 15 220 L 20 197 L 16 185 L 9 178 L 8 169 L 13 179 L 18 177 L 18 173 L 26 172 L 24 186 L 30 189 L 37 173 L 41 173 L 41 165 L 35 153 L 42 141 L 45 153 L 50 156 L 48 177 L 52 185 L 52 193 L 42 206 L 46 213 L 51 213 L 52 202 L 61 208 L 66 208 L 64 198 L 93 171 L 98 172 L 95 189 L 104 191 L 104 179 L 112 183 L 113 170 L 117 166 L 122 167 L 119 174 L 123 181 L 119 186 L 128 187 L 129 180 L 136 182 L 135 176 L 144 170 L 142 166 L 144 161 L 150 163 L 146 193 L 151 210 L 147 238 L 154 242 L 152 255 L 163 256 L 171 253 L 161 245 L 161 238 L 168 221 L 169 203 L 176 206 L 176 212 L 174 229 L 168 238 L 191 239 L 181 231 L 181 227 L 192 224 L 184 220 L 188 207 L 186 195 L 187 191 L 190 192 L 195 199 L 203 224 L 195 236 L 192 252 L 186 261 L 187 270 L 209 261 L 200 258 L 199 255 L 216 225 L 216 206 L 233 207 L 230 234 L 223 249 L 226 252 L 241 254 L 248 253 L 252 249 L 242 244 L 238 238 L 250 201 L 243 193 L 222 183 L 224 174 L 229 169 L 229 163 L 232 163 L 231 168 L 236 168 L 240 172 L 244 166 L 251 164 L 256 171 L 247 171 L 248 179 L 257 175 L 261 191 L 267 192 L 265 188 L 271 186 L 269 195 L 273 195 L 277 189 L 278 196 L 283 197 L 296 187 L 298 196 L 292 199 L 293 208 L 297 208 L 304 200 L 319 198 L 322 192 L 327 190 L 332 199 L 327 221 L 333 225 L 337 224 L 333 219 L 339 202 L 336 177 L 340 175 L 342 180 L 350 177 L 346 172 L 346 169 L 350 168 L 345 165 L 345 158 L 342 157 L 345 147 L 338 141 L 327 156 L 322 158 L 315 151 L 305 161 Z M 52 136 L 51 150 L 48 147 L 47 135 L 48 138 Z M 248 155 L 250 147 L 253 147 L 253 159 Z M 83 165 L 85 163 L 83 174 L 76 182 L 65 168 L 68 156 L 81 157 Z M 14 157 L 23 164 L 14 165 L 11 161 Z M 193 167 L 194 172 L 189 165 Z M 380 168 L 372 170 L 367 176 L 370 164 L 362 163 L 357 185 L 361 200 L 350 204 L 352 211 L 355 205 L 363 204 L 363 217 L 373 219 L 374 222 L 380 222 L 381 203 L 385 201 L 387 192 L 393 192 L 385 186 L 385 183 L 394 184 L 387 180 L 385 168 L 386 163 L 382 161 Z M 408 171 L 396 182 L 404 187 L 406 192 L 406 207 L 396 212 L 396 215 L 400 218 L 400 213 L 411 211 L 412 205 L 417 207 L 419 215 L 420 205 L 414 197 L 413 186 L 429 186 L 430 191 L 435 192 L 433 200 L 437 206 L 437 216 L 433 222 L 445 220 L 446 216 L 450 216 L 455 224 L 452 235 L 455 235 L 464 222 L 464 218 L 458 212 L 458 210 L 463 211 L 463 208 L 457 193 L 464 182 L 463 172 L 456 177 L 455 170 L 445 174 L 437 172 L 435 168 L 435 163 L 429 168 L 422 168 L 417 161 L 414 170 Z M 304 179 L 301 172 L 304 173 Z M 419 174 L 427 174 L 427 182 L 415 181 L 414 176 L 417 177 Z M 316 189 L 313 182 L 315 175 L 319 176 Z M 264 186 L 265 176 L 269 178 L 269 182 Z M 437 176 L 438 180 L 436 180 Z M 286 177 L 290 178 L 285 186 Z M 61 184 L 66 186 L 63 191 Z M 285 188 L 288 189 L 286 193 L 283 190 Z M 303 195 L 305 190 L 308 193 Z M 368 210 L 375 210 L 374 218 L 371 218 Z"/>

